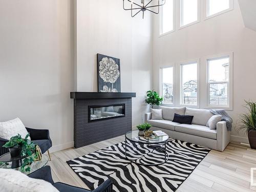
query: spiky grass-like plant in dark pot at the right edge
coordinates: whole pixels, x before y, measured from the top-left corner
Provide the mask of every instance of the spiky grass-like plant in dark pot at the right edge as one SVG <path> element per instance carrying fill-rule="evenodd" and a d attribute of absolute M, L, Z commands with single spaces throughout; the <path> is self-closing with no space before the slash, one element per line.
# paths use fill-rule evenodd
<path fill-rule="evenodd" d="M 240 115 L 238 131 L 247 133 L 250 147 L 256 149 L 256 103 L 245 100 L 247 113 Z"/>

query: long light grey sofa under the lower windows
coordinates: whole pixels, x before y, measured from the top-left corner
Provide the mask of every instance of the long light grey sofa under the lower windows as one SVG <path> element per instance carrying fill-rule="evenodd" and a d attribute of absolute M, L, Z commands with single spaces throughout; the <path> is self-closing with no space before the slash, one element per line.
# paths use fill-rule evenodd
<path fill-rule="evenodd" d="M 230 141 L 230 132 L 227 131 L 225 121 L 218 122 L 216 130 L 210 130 L 206 126 L 209 118 L 213 115 L 209 110 L 167 106 L 159 106 L 159 108 L 162 109 L 163 120 L 153 120 L 151 119 L 151 113 L 145 113 L 145 122 L 152 124 L 153 129 L 165 132 L 170 138 L 209 147 L 221 152 Z M 175 113 L 193 115 L 192 124 L 173 122 Z"/>

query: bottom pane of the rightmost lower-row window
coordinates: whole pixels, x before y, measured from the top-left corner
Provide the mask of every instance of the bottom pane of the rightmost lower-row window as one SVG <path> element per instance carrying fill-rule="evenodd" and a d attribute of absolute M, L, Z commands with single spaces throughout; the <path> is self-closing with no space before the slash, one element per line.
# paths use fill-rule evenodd
<path fill-rule="evenodd" d="M 209 104 L 218 106 L 227 106 L 228 105 L 228 99 L 227 99 L 227 83 L 210 83 L 209 87 Z"/>

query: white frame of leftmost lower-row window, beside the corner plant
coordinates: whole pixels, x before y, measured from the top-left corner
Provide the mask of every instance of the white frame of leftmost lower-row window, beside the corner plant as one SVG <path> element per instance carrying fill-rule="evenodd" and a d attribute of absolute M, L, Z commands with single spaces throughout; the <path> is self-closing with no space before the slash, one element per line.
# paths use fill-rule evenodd
<path fill-rule="evenodd" d="M 175 106 L 175 65 L 169 65 L 169 66 L 164 66 L 164 67 L 160 67 L 160 89 L 159 89 L 159 93 L 160 93 L 160 97 L 163 97 L 163 89 L 162 89 L 162 84 L 163 84 L 163 69 L 165 68 L 173 68 L 173 103 L 165 103 L 164 101 L 161 103 L 161 105 L 163 106 Z"/>

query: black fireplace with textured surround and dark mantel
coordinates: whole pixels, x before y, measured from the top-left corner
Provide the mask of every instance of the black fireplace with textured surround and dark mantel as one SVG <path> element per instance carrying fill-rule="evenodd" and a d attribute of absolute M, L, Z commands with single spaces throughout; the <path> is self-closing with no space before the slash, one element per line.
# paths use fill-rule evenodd
<path fill-rule="evenodd" d="M 74 147 L 82 147 L 132 130 L 136 93 L 72 92 Z"/>

